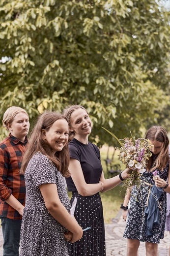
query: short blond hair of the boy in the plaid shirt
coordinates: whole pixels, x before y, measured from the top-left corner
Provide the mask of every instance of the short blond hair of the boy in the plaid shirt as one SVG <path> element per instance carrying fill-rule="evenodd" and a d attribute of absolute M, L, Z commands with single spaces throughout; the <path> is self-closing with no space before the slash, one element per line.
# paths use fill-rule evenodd
<path fill-rule="evenodd" d="M 7 124 L 11 124 L 15 118 L 15 116 L 19 113 L 25 113 L 28 116 L 28 113 L 26 112 L 25 109 L 21 107 L 8 107 L 5 113 L 3 114 L 3 126 L 8 130 Z"/>

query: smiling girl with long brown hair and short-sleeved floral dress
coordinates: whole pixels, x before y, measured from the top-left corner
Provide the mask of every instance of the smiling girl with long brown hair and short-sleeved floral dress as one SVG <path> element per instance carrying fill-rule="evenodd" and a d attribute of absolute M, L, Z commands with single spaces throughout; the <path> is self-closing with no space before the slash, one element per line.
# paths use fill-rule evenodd
<path fill-rule="evenodd" d="M 64 177 L 70 175 L 67 141 L 65 117 L 49 111 L 40 115 L 22 163 L 26 206 L 20 256 L 68 256 L 66 241 L 73 243 L 82 237 L 82 228 L 68 213 L 71 206 L 64 185 Z"/>

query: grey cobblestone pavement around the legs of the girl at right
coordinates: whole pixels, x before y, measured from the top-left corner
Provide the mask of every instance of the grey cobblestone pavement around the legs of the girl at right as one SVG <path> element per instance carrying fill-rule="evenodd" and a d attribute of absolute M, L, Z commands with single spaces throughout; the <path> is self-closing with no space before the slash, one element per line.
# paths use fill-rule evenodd
<path fill-rule="evenodd" d="M 126 256 L 127 240 L 123 238 L 125 229 L 125 222 L 121 218 L 121 211 L 113 219 L 112 224 L 105 224 L 106 231 L 106 256 Z M 2 256 L 2 231 L 0 226 L 0 256 Z M 165 231 L 164 239 L 161 239 L 158 245 L 158 256 L 168 256 L 168 249 L 170 246 L 170 234 Z M 140 244 L 139 256 L 145 256 L 145 243 Z"/>

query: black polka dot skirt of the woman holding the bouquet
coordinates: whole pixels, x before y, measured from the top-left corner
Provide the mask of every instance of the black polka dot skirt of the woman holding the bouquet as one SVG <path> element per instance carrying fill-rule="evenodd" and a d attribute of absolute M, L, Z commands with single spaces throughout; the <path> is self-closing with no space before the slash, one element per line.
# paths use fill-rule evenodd
<path fill-rule="evenodd" d="M 100 194 L 82 196 L 78 192 L 73 192 L 71 204 L 75 196 L 75 218 L 83 229 L 89 226 L 91 228 L 84 231 L 81 240 L 68 244 L 69 256 L 105 256 L 105 227 Z"/>

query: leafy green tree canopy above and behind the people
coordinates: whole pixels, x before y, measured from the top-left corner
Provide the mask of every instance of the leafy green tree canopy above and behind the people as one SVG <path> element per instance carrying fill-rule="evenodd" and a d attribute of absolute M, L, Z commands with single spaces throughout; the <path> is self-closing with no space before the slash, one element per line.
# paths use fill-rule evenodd
<path fill-rule="evenodd" d="M 96 142 L 140 136 L 170 110 L 169 18 L 155 0 L 1 0 L 0 119 L 81 104 Z"/>

